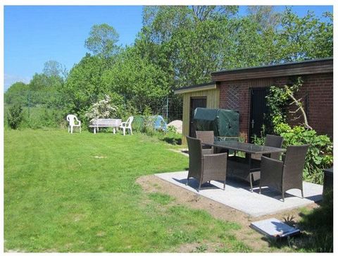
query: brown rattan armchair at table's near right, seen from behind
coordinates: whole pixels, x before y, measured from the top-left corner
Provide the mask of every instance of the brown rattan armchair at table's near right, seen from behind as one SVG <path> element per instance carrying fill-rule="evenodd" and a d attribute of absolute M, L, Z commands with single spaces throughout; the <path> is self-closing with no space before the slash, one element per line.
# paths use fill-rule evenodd
<path fill-rule="evenodd" d="M 303 169 L 307 151 L 308 145 L 289 146 L 284 161 L 262 157 L 259 193 L 263 186 L 274 188 L 282 193 L 284 202 L 285 191 L 298 188 L 303 197 Z"/>

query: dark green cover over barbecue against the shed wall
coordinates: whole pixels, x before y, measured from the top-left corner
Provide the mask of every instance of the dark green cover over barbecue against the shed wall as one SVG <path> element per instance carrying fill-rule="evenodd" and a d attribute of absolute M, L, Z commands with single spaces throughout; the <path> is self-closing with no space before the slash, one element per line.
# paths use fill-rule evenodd
<path fill-rule="evenodd" d="M 215 137 L 239 137 L 239 113 L 230 109 L 196 108 L 196 130 L 213 130 Z"/>

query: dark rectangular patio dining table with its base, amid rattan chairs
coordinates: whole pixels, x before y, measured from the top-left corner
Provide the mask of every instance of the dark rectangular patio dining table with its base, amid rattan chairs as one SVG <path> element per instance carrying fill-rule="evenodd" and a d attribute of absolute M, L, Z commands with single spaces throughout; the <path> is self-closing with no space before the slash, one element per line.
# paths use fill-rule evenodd
<path fill-rule="evenodd" d="M 261 160 L 252 159 L 251 154 L 271 154 L 286 152 L 285 149 L 278 147 L 268 147 L 261 145 L 254 145 L 251 143 L 237 142 L 237 141 L 215 141 L 213 143 L 202 142 L 202 145 L 213 146 L 229 153 L 229 150 L 235 152 L 230 156 L 227 154 L 227 176 L 240 178 L 244 181 L 249 181 L 252 192 L 253 181 L 260 178 Z M 244 157 L 239 157 L 236 152 L 244 152 Z"/>

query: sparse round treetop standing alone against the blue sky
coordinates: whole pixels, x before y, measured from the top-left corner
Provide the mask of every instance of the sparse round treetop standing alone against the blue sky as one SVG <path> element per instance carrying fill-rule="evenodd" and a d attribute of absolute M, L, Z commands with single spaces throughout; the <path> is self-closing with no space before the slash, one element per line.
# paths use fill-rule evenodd
<path fill-rule="evenodd" d="M 94 55 L 109 58 L 118 52 L 118 32 L 115 28 L 104 23 L 93 25 L 89 32 L 89 37 L 84 42 L 84 46 L 92 51 Z"/>

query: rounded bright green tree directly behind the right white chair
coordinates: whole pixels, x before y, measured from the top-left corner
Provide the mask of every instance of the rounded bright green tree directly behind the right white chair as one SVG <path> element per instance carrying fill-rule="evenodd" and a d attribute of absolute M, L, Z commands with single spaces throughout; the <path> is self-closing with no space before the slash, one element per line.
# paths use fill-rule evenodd
<path fill-rule="evenodd" d="M 123 95 L 141 113 L 145 106 L 156 109 L 169 92 L 166 73 L 133 48 L 125 49 L 115 59 L 115 64 L 103 74 L 102 83 L 108 90 Z"/>

